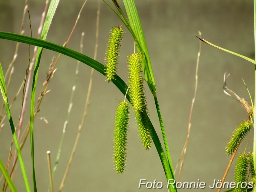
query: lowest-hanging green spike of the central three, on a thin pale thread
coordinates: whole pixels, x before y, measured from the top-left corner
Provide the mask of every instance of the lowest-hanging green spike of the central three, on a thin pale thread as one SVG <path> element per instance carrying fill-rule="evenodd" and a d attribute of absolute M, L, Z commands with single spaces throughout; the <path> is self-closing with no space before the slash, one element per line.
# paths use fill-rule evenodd
<path fill-rule="evenodd" d="M 114 127 L 114 166 L 116 173 L 125 170 L 126 143 L 129 121 L 129 103 L 120 102 L 116 108 Z"/>

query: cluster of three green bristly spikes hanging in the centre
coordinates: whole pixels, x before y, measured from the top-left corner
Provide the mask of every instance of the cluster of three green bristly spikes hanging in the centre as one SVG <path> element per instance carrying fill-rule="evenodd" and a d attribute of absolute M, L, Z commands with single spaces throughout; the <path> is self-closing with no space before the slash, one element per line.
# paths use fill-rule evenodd
<path fill-rule="evenodd" d="M 119 59 L 119 47 L 124 35 L 121 27 L 113 27 L 108 39 L 108 47 L 105 56 L 106 67 L 105 76 L 108 82 L 116 76 L 116 70 Z M 133 53 L 128 56 L 128 84 L 131 105 L 137 120 L 140 140 L 143 148 L 148 150 L 151 144 L 151 125 L 148 118 L 147 106 L 145 101 L 145 93 L 142 77 L 142 55 Z M 126 143 L 129 121 L 129 103 L 119 102 L 116 108 L 116 118 L 114 126 L 114 166 L 116 173 L 123 173 L 125 170 L 126 160 Z"/>

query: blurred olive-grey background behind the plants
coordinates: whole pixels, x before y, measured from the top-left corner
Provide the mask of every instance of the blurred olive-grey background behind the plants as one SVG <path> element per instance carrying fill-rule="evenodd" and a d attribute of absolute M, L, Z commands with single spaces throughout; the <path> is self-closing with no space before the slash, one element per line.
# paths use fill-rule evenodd
<path fill-rule="evenodd" d="M 123 7 L 121 0 L 120 5 Z M 18 33 L 23 15 L 25 0 L 0 0 L 0 31 Z M 73 28 L 83 0 L 61 0 L 47 35 L 47 41 L 63 45 Z M 97 61 L 105 62 L 105 49 L 112 26 L 122 23 L 113 11 L 101 3 L 99 20 L 99 49 Z M 112 1 L 108 0 L 112 5 Z M 195 87 L 195 66 L 199 49 L 199 41 L 195 38 L 198 30 L 202 38 L 225 49 L 254 58 L 253 43 L 253 1 L 240 0 L 137 0 L 137 9 L 142 22 L 145 38 L 151 57 L 152 68 L 157 85 L 157 96 L 169 141 L 172 163 L 176 167 L 177 160 L 187 137 L 190 106 Z M 41 14 L 44 11 L 44 0 L 30 0 L 29 11 L 32 20 L 32 33 L 37 36 Z M 85 55 L 93 57 L 96 33 L 97 1 L 88 0 L 73 33 L 68 48 L 79 51 L 81 33 L 84 35 Z M 120 50 L 118 75 L 127 82 L 126 56 L 134 49 L 134 40 L 126 31 Z M 24 35 L 30 36 L 29 17 L 26 14 Z M 6 72 L 15 52 L 16 42 L 0 40 L 0 62 Z M 34 47 L 30 47 L 32 55 Z M 49 64 L 58 53 L 44 49 L 38 75 L 37 95 L 46 78 Z M 32 57 L 32 56 L 31 56 Z M 9 101 L 17 93 L 28 66 L 28 45 L 20 44 L 15 72 L 9 87 Z M 76 61 L 61 55 L 57 71 L 50 82 L 48 93 L 35 119 L 35 172 L 38 191 L 47 191 L 49 176 L 46 151 L 51 151 L 52 166 L 61 139 L 62 128 L 67 117 L 70 93 L 75 81 Z M 254 66 L 248 61 L 219 49 L 202 44 L 198 69 L 198 93 L 192 114 L 192 126 L 186 160 L 180 181 L 204 181 L 204 191 L 209 190 L 213 180 L 221 179 L 230 157 L 225 154 L 225 146 L 233 130 L 239 122 L 247 119 L 246 111 L 240 103 L 223 93 L 224 73 L 232 73 L 227 80 L 227 87 L 244 97 L 250 98 L 242 79 L 254 96 Z M 90 78 L 90 67 L 80 64 L 79 81 L 67 134 L 62 148 L 61 160 L 54 177 L 54 189 L 58 190 L 64 175 L 78 126 L 84 110 L 87 87 Z M 160 126 L 154 99 L 146 87 L 148 108 L 151 121 L 160 137 Z M 30 93 L 29 93 L 30 94 Z M 106 191 L 134 192 L 148 191 L 143 186 L 138 189 L 140 179 L 153 182 L 154 179 L 164 183 L 166 178 L 156 149 L 142 149 L 139 141 L 134 116 L 131 116 L 128 134 L 127 166 L 123 175 L 113 170 L 113 119 L 115 107 L 124 96 L 105 77 L 97 71 L 93 77 L 90 96 L 90 108 L 84 123 L 77 150 L 67 176 L 63 192 Z M 29 102 L 26 108 L 23 129 L 29 121 Z M 17 119 L 21 109 L 21 96 L 11 108 L 13 119 Z M 44 117 L 46 124 L 39 119 Z M 243 152 L 253 131 L 244 139 L 239 152 Z M 28 140 L 29 141 L 29 140 Z M 12 142 L 9 122 L 0 131 L 0 158 L 6 164 Z M 250 142 L 247 151 L 252 150 Z M 26 143 L 22 151 L 28 171 L 30 185 L 31 160 L 30 145 Z M 178 166 L 179 169 L 179 166 Z M 176 172 L 177 177 L 177 172 Z M 227 176 L 233 181 L 233 166 Z M 0 181 L 2 186 L 3 179 Z M 20 166 L 17 166 L 14 183 L 18 191 L 25 191 Z M 153 189 L 151 189 L 153 190 Z M 200 189 L 185 189 L 190 191 Z M 180 189 L 179 191 L 184 191 Z"/>

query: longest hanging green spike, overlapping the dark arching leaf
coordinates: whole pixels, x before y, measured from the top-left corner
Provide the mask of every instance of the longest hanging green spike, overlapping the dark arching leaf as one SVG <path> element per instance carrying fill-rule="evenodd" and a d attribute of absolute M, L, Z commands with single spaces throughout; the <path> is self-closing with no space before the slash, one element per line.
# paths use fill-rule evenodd
<path fill-rule="evenodd" d="M 128 56 L 128 84 L 131 105 L 137 119 L 140 140 L 143 148 L 151 148 L 151 128 L 147 115 L 147 106 L 145 101 L 145 93 L 142 78 L 142 55 L 141 53 L 133 53 Z"/>

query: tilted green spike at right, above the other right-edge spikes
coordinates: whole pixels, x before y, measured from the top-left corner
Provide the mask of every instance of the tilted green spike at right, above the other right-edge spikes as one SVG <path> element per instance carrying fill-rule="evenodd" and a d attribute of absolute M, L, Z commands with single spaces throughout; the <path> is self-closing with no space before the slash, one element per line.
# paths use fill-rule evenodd
<path fill-rule="evenodd" d="M 241 141 L 244 139 L 244 136 L 251 130 L 251 127 L 252 125 L 245 120 L 239 123 L 239 125 L 231 135 L 230 142 L 227 143 L 227 154 L 232 154 L 236 150 L 236 148 L 238 148 Z"/>

